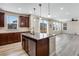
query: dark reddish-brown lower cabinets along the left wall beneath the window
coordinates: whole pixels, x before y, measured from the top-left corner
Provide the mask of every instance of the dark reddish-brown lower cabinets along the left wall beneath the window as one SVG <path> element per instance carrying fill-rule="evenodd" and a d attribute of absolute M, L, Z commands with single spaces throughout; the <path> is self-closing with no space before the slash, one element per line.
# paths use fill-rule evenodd
<path fill-rule="evenodd" d="M 0 34 L 0 45 L 20 42 L 20 33 L 1 33 Z"/>

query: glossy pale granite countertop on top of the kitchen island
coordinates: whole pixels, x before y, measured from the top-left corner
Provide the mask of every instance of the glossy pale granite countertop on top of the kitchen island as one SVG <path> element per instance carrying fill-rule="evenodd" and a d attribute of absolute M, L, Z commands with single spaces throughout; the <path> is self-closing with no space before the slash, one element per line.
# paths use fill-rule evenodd
<path fill-rule="evenodd" d="M 26 37 L 30 37 L 33 38 L 35 40 L 40 40 L 40 39 L 44 39 L 44 38 L 49 38 L 49 37 L 54 37 L 55 35 L 51 35 L 51 34 L 46 34 L 46 33 L 36 33 L 36 34 L 31 34 L 31 33 L 22 33 L 22 35 L 26 36 Z"/>

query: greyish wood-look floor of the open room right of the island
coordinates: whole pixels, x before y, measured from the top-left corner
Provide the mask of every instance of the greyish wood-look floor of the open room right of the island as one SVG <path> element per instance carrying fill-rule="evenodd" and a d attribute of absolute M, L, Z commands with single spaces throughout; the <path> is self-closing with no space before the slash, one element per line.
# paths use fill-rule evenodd
<path fill-rule="evenodd" d="M 56 36 L 56 55 L 79 56 L 79 35 L 61 34 Z"/>

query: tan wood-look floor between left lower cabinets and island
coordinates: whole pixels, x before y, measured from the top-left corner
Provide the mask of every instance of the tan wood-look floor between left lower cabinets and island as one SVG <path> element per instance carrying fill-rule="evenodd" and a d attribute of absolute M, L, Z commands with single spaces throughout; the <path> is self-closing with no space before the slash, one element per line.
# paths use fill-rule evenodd
<path fill-rule="evenodd" d="M 28 56 L 21 42 L 0 46 L 0 56 Z"/>

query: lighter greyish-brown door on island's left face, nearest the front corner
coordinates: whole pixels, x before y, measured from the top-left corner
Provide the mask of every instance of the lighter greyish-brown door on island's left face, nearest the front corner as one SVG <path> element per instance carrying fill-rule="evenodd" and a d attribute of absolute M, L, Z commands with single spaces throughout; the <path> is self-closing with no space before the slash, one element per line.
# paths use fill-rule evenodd
<path fill-rule="evenodd" d="M 33 40 L 28 40 L 28 54 L 30 56 L 35 56 L 36 55 L 36 43 Z"/>

